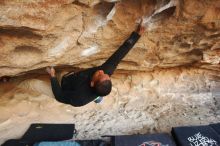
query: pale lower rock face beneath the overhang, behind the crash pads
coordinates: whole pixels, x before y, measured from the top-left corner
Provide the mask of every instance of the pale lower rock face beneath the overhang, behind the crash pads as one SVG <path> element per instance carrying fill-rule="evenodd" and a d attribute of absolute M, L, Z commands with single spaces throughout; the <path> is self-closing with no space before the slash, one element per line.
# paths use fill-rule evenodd
<path fill-rule="evenodd" d="M 210 71 L 169 69 L 117 72 L 102 104 L 72 107 L 54 100 L 48 76 L 0 84 L 0 144 L 19 138 L 31 123 L 75 123 L 78 139 L 170 132 L 171 127 L 220 121 L 220 77 Z"/>

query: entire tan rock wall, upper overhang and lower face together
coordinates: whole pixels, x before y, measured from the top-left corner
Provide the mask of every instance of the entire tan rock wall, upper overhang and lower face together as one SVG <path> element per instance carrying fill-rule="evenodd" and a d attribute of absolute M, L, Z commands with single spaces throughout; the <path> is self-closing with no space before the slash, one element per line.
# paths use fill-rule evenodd
<path fill-rule="evenodd" d="M 75 123 L 78 139 L 93 139 L 219 121 L 219 14 L 220 0 L 1 0 L 0 144 L 33 122 Z M 142 16 L 147 30 L 103 104 L 53 98 L 45 67 L 102 64 Z"/>

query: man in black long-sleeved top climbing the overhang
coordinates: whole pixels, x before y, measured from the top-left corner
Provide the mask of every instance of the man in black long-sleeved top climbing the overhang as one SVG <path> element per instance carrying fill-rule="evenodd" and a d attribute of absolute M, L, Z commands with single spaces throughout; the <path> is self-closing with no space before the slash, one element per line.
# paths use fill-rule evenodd
<path fill-rule="evenodd" d="M 130 37 L 105 63 L 98 67 L 64 75 L 61 86 L 56 78 L 54 68 L 48 67 L 47 72 L 51 76 L 51 86 L 56 100 L 72 106 L 83 106 L 91 101 L 100 103 L 103 96 L 111 92 L 110 76 L 144 31 L 145 27 L 141 21 L 137 30 L 132 32 Z"/>

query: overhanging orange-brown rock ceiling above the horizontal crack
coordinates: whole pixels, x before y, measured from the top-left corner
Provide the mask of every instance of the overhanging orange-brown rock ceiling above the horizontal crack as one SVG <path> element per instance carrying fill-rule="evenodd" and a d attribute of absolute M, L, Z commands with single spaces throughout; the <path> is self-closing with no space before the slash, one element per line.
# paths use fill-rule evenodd
<path fill-rule="evenodd" d="M 159 3 L 159 4 L 158 4 Z M 167 1 L 1 1 L 0 76 L 48 65 L 87 68 L 103 63 Z M 191 65 L 219 71 L 220 1 L 175 1 L 151 23 L 118 69 L 148 71 Z M 169 13 L 169 17 L 166 15 Z"/>

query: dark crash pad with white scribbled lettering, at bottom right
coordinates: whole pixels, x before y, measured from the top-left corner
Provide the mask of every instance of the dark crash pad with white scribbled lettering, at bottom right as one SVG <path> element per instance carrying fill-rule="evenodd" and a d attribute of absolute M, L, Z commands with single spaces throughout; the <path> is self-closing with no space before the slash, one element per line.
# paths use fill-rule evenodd
<path fill-rule="evenodd" d="M 219 146 L 220 137 L 210 126 L 186 126 L 172 128 L 178 146 Z"/>

